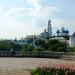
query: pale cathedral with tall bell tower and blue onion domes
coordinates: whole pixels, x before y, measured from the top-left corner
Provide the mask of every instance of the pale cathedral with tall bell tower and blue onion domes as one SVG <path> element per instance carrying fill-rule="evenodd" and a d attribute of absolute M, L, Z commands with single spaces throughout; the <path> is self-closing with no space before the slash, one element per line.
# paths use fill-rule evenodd
<path fill-rule="evenodd" d="M 52 38 L 52 37 L 63 37 L 69 36 L 69 30 L 62 27 L 61 29 L 57 29 L 56 36 L 52 34 L 52 24 L 51 20 L 48 20 L 48 27 L 41 33 L 42 38 Z"/>

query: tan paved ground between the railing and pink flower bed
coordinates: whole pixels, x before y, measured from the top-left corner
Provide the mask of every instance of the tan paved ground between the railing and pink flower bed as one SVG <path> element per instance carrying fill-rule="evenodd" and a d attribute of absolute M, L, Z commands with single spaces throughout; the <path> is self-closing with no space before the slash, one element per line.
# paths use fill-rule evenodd
<path fill-rule="evenodd" d="M 10 72 L 11 75 L 15 75 L 15 72 L 25 72 L 28 73 L 27 70 L 32 70 L 37 67 L 38 64 L 42 63 L 70 63 L 75 64 L 75 61 L 70 60 L 62 60 L 62 59 L 50 59 L 50 58 L 0 58 L 0 75 L 2 72 Z M 26 70 L 27 69 L 27 70 Z M 8 74 L 2 74 L 8 75 Z M 10 75 L 10 74 L 9 74 Z M 20 74 L 16 74 L 20 75 Z M 24 74 L 21 74 L 24 75 Z M 30 75 L 30 74 L 27 74 Z"/>

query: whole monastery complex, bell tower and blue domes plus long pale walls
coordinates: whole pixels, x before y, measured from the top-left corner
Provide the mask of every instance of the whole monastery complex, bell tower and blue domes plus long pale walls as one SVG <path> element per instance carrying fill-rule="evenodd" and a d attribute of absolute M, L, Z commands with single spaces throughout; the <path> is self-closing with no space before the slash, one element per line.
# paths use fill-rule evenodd
<path fill-rule="evenodd" d="M 14 41 L 15 44 L 20 44 L 20 45 L 24 45 L 24 44 L 30 44 L 30 45 L 35 45 L 36 40 L 38 39 L 42 39 L 42 40 L 46 40 L 46 39 L 55 39 L 55 40 L 59 40 L 61 42 L 65 42 L 67 44 L 69 44 L 70 46 L 75 46 L 75 33 L 72 35 L 72 37 L 70 38 L 70 40 L 67 40 L 66 38 L 64 38 L 65 36 L 69 37 L 69 30 L 65 29 L 64 27 L 62 27 L 61 29 L 58 29 L 56 31 L 56 36 L 52 35 L 52 25 L 51 25 L 51 20 L 48 20 L 48 27 L 47 29 L 44 30 L 44 32 L 42 32 L 40 35 L 29 35 L 26 36 L 25 38 L 22 38 L 20 40 L 16 40 Z M 69 43 L 70 41 L 70 43 Z"/>

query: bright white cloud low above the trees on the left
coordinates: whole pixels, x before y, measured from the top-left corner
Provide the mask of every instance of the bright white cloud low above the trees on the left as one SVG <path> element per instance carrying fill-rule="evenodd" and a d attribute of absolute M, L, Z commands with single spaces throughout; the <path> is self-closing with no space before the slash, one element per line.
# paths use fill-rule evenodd
<path fill-rule="evenodd" d="M 38 34 L 38 27 L 32 25 L 31 23 L 23 23 L 19 21 L 14 21 L 12 19 L 3 18 L 4 20 L 0 20 L 0 38 L 15 38 L 20 39 L 21 37 L 25 37 L 26 35 Z M 4 21 L 4 22 L 3 22 Z"/>

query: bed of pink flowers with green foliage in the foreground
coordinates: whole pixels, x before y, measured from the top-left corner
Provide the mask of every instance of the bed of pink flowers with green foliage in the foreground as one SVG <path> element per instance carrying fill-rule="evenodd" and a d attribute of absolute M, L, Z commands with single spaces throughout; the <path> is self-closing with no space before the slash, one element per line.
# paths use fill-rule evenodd
<path fill-rule="evenodd" d="M 75 65 L 45 64 L 33 70 L 32 75 L 75 75 Z"/>

